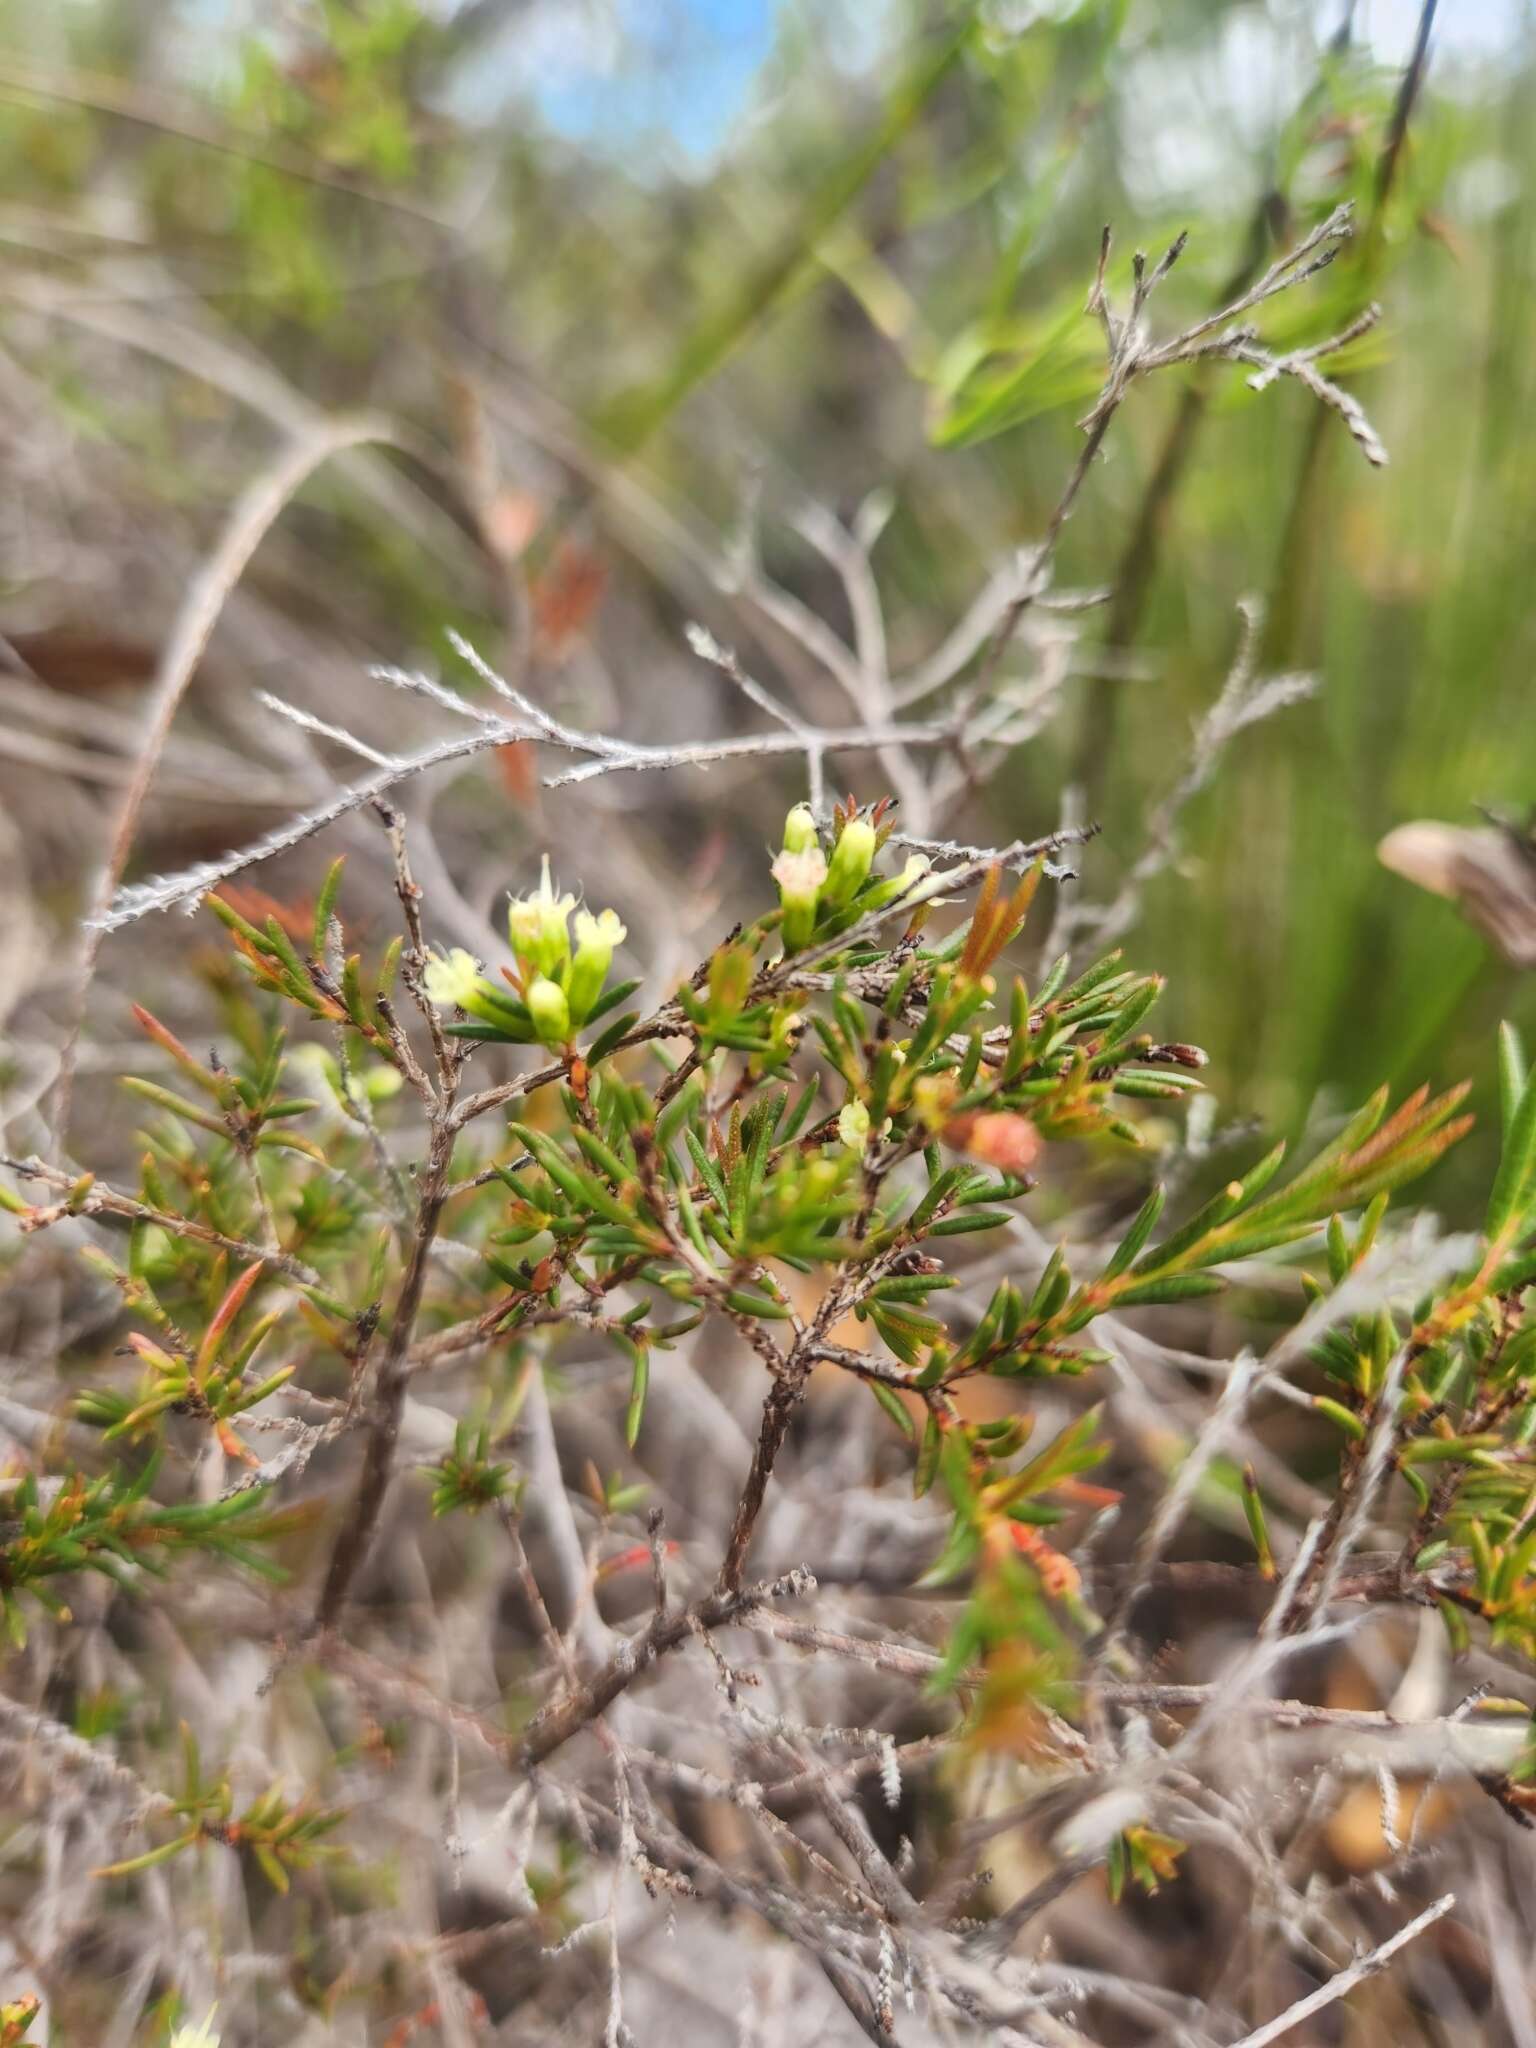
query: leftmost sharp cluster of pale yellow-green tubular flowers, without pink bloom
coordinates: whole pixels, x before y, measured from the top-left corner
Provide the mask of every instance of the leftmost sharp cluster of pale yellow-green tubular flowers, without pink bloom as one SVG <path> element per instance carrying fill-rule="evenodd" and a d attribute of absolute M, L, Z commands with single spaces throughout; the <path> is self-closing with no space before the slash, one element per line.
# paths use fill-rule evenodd
<path fill-rule="evenodd" d="M 592 915 L 575 909 L 573 895 L 557 895 L 545 854 L 539 887 L 512 899 L 506 926 L 518 967 L 516 973 L 502 969 L 504 987 L 481 973 L 471 952 L 455 946 L 446 958 L 428 963 L 426 993 L 444 1010 L 457 1006 L 516 1044 L 569 1044 L 571 1032 L 598 1008 L 614 946 L 625 940 L 618 913 L 604 909 Z"/>

